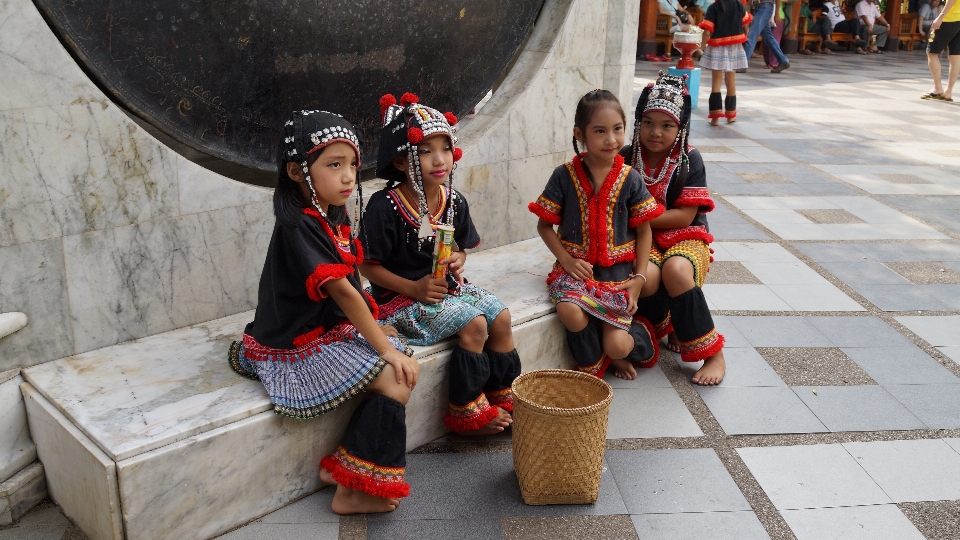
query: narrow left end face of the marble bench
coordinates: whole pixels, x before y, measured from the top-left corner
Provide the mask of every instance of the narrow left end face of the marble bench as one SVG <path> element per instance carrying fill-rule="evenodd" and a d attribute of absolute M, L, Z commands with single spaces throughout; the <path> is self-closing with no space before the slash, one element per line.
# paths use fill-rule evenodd
<path fill-rule="evenodd" d="M 50 498 L 89 538 L 122 540 L 114 462 L 30 384 L 20 389 Z"/>

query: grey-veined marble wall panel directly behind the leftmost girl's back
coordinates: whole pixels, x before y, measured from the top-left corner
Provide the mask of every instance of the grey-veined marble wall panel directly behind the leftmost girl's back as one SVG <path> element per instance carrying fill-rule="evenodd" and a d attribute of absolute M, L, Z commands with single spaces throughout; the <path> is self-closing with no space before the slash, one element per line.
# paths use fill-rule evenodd
<path fill-rule="evenodd" d="M 76 352 L 250 309 L 272 203 L 64 238 Z"/>

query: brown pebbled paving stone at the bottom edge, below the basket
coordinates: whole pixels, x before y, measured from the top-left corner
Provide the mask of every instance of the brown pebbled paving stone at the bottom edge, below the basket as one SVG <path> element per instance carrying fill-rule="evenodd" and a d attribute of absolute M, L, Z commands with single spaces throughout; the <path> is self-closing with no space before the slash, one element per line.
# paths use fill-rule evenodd
<path fill-rule="evenodd" d="M 638 540 L 625 515 L 504 518 L 501 526 L 506 540 Z"/>

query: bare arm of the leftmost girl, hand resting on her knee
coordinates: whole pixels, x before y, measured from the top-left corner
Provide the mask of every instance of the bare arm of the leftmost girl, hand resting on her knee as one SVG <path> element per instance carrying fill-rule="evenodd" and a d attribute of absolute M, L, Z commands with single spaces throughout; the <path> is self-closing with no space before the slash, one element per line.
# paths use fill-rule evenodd
<path fill-rule="evenodd" d="M 417 384 L 420 374 L 420 364 L 416 360 L 393 348 L 387 336 L 377 325 L 370 308 L 367 307 L 360 292 L 344 278 L 330 280 L 323 284 L 323 289 L 340 306 L 343 313 L 350 319 L 350 323 L 357 328 L 363 339 L 367 340 L 380 358 L 393 366 L 397 372 L 397 383 L 413 388 Z"/>

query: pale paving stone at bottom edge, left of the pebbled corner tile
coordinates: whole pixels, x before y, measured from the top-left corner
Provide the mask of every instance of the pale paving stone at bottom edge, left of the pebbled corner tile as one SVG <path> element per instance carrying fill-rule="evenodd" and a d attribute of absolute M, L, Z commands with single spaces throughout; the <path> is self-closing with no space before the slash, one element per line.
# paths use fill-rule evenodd
<path fill-rule="evenodd" d="M 924 540 L 893 504 L 782 510 L 797 540 Z"/>

